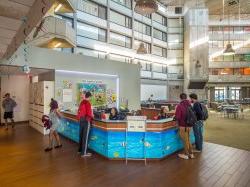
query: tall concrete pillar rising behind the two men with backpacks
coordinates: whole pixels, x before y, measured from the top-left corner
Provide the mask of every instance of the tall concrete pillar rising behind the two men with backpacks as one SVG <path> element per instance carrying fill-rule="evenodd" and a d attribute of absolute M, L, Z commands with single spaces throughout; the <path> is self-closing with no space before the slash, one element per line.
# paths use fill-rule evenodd
<path fill-rule="evenodd" d="M 185 17 L 184 89 L 204 89 L 208 78 L 208 9 L 190 8 Z"/>

